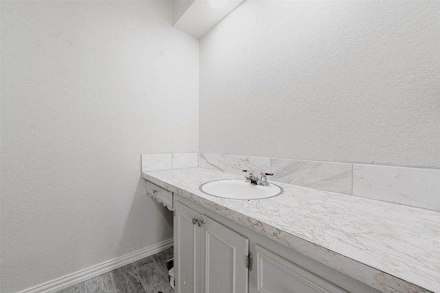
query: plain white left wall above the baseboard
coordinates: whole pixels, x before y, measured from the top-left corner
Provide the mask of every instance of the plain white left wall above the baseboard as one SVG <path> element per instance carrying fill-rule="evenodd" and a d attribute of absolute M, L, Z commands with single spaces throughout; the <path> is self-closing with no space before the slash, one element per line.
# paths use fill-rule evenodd
<path fill-rule="evenodd" d="M 168 1 L 1 1 L 1 292 L 153 246 L 140 154 L 197 152 L 198 40 Z"/>

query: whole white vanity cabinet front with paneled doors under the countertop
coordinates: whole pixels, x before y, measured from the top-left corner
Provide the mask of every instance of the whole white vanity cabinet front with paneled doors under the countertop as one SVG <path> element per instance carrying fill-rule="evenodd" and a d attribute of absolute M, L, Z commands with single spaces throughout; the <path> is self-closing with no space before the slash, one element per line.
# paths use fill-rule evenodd
<path fill-rule="evenodd" d="M 378 292 L 178 194 L 174 207 L 177 293 Z"/>

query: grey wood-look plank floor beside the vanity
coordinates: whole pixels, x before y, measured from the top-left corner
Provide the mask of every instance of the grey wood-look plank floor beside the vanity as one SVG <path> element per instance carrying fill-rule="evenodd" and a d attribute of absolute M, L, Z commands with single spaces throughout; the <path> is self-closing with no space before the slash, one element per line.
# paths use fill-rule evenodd
<path fill-rule="evenodd" d="M 165 266 L 172 258 L 173 248 L 169 248 L 57 293 L 173 293 Z"/>

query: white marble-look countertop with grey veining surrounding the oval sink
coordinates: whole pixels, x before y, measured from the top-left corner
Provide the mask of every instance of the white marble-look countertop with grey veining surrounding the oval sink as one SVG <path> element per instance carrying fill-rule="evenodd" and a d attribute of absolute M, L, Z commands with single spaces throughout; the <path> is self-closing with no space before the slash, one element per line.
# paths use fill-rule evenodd
<path fill-rule="evenodd" d="M 142 177 L 382 292 L 440 292 L 439 212 L 284 183 L 274 198 L 216 198 L 199 185 L 243 176 L 203 168 Z"/>

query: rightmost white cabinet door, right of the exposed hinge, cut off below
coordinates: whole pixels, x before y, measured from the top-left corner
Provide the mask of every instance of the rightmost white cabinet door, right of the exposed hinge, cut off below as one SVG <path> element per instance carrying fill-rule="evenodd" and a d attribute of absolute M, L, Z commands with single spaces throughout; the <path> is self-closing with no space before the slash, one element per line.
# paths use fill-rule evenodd
<path fill-rule="evenodd" d="M 250 292 L 347 293 L 270 250 L 256 245 L 255 251 Z"/>

